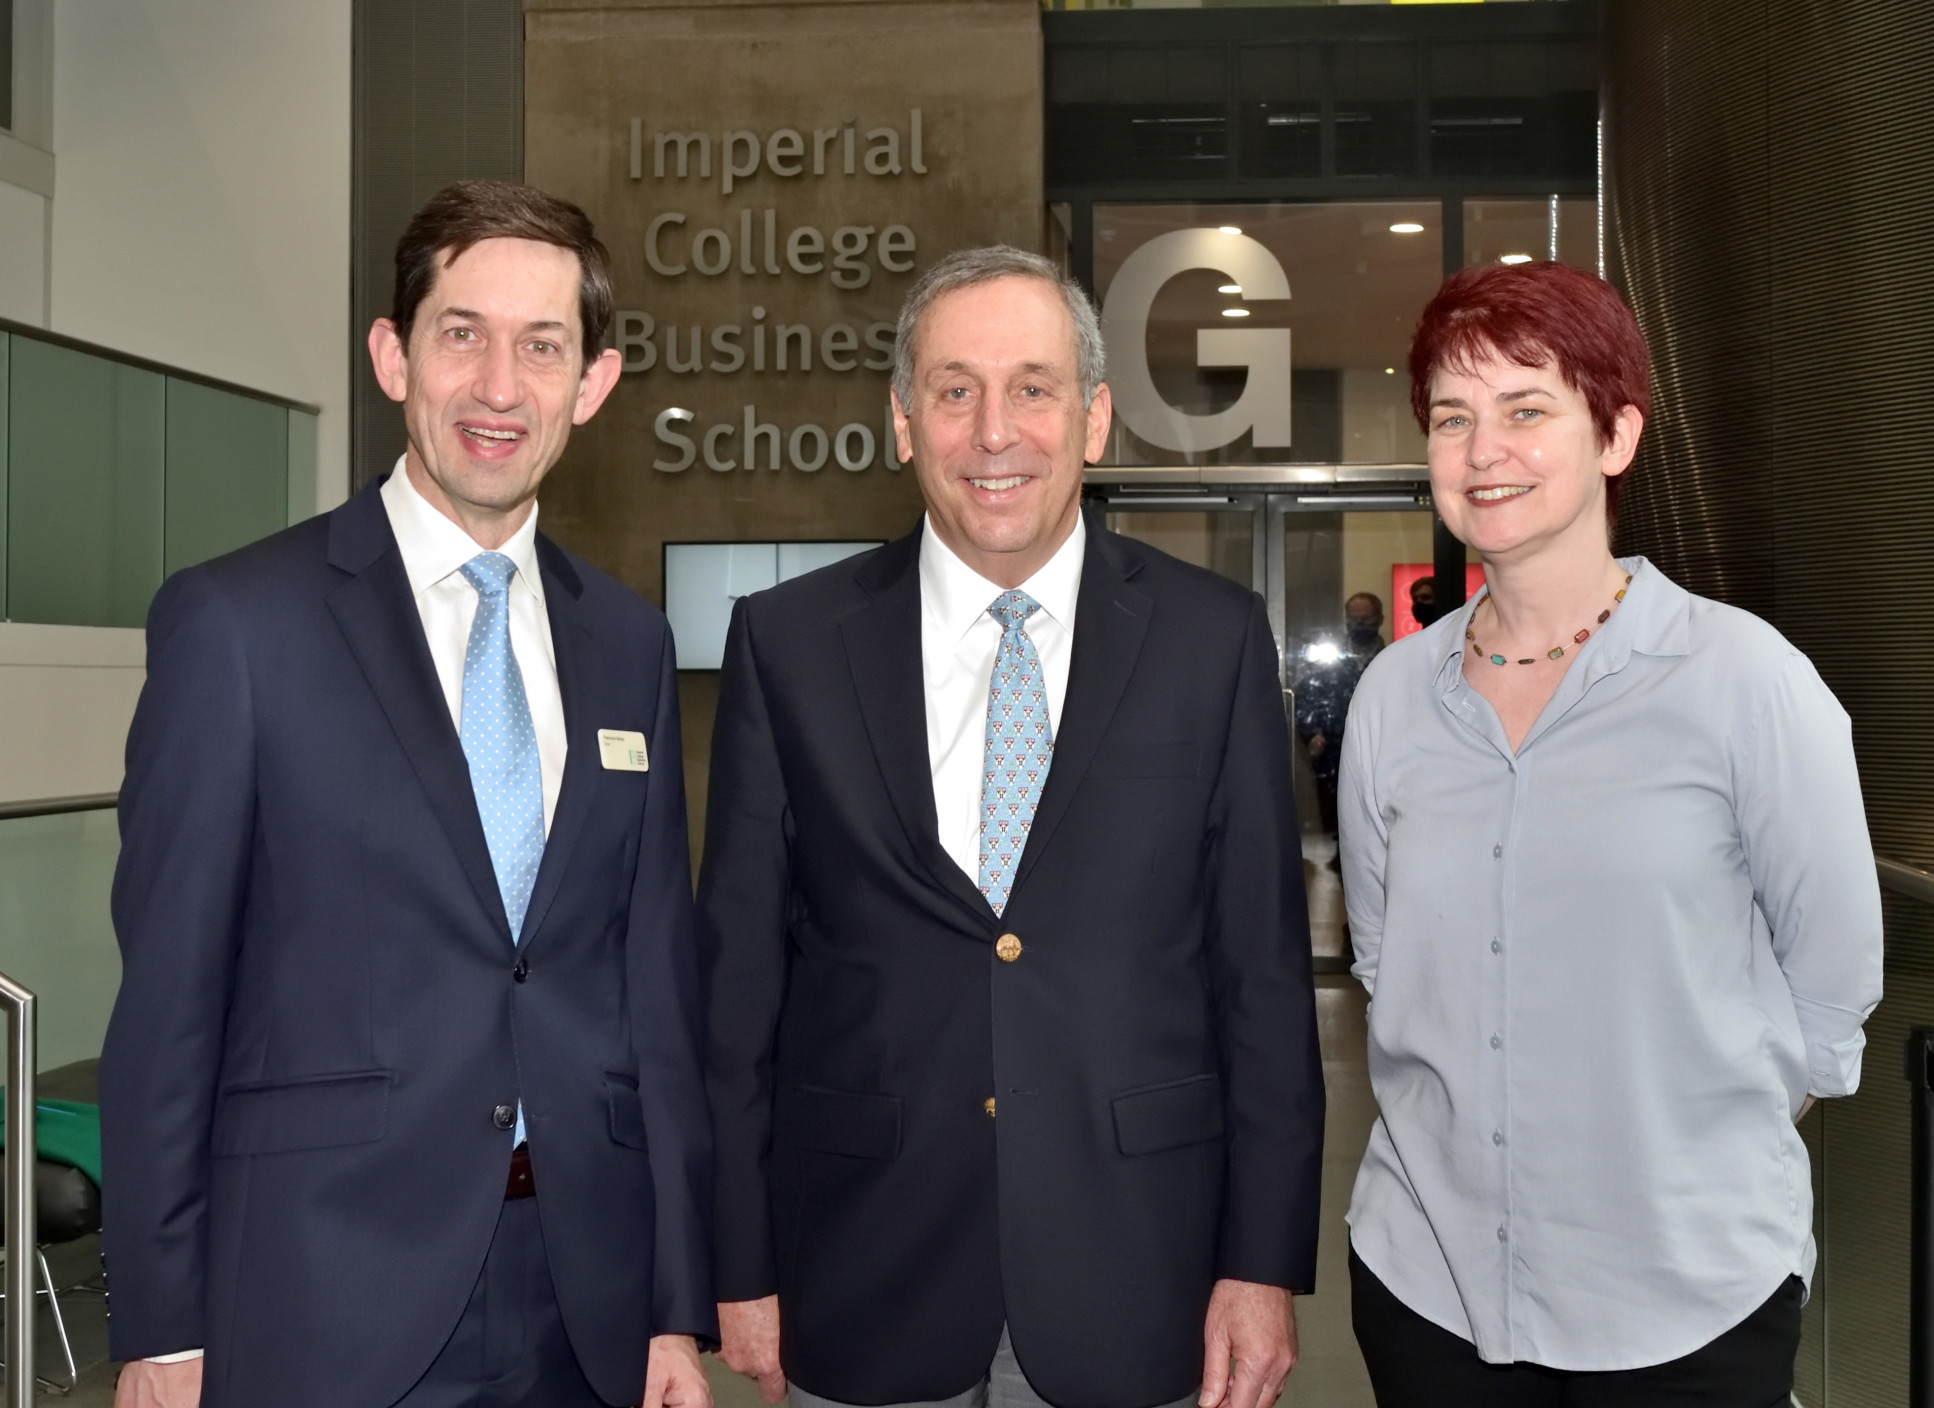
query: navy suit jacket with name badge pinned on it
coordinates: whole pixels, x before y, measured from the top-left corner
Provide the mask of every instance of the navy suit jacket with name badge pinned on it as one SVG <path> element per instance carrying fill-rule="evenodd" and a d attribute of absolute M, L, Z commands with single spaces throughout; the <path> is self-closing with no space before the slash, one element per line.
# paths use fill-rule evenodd
<path fill-rule="evenodd" d="M 377 1408 L 476 1284 L 522 1100 L 565 1325 L 636 1402 L 714 1335 L 663 615 L 538 538 L 569 762 L 522 942 L 377 484 L 170 578 L 128 737 L 101 1060 L 112 1352 L 209 1408 Z M 648 739 L 601 766 L 598 729 Z"/>

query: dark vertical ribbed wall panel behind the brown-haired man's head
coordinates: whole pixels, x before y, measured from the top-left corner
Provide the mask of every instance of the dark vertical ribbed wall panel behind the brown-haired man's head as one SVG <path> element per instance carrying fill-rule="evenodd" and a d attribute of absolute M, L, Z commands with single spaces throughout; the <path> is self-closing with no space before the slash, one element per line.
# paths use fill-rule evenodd
<path fill-rule="evenodd" d="M 354 0 L 350 485 L 402 453 L 402 412 L 364 350 L 395 288 L 396 240 L 431 193 L 524 172 L 522 0 Z"/>

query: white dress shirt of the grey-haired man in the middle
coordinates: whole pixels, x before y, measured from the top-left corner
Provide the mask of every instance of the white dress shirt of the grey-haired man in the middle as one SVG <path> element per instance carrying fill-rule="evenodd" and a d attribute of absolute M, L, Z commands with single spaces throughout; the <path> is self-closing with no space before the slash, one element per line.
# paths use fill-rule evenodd
<path fill-rule="evenodd" d="M 1075 598 L 1087 526 L 1075 518 L 1068 542 L 1021 584 L 1040 609 L 1021 627 L 1040 656 L 1048 723 L 1062 731 L 1068 661 L 1075 646 Z M 932 518 L 921 534 L 921 673 L 926 681 L 926 756 L 934 770 L 940 845 L 981 884 L 981 776 L 986 770 L 986 690 L 1000 654 L 1000 623 L 988 607 L 1006 592 L 940 542 Z"/>

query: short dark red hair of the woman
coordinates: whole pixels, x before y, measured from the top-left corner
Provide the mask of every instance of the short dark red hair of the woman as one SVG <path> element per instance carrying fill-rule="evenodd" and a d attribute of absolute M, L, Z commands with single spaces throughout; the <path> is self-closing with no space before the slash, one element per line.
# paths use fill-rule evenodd
<path fill-rule="evenodd" d="M 1538 261 L 1458 269 L 1423 306 L 1410 338 L 1410 410 L 1431 427 L 1431 377 L 1468 371 L 1497 354 L 1520 367 L 1557 364 L 1565 385 L 1592 410 L 1597 443 L 1611 441 L 1626 406 L 1652 412 L 1652 354 L 1619 292 L 1570 265 Z M 1626 470 L 1630 474 L 1630 470 Z M 1605 509 L 1619 513 L 1619 484 L 1605 480 Z"/>

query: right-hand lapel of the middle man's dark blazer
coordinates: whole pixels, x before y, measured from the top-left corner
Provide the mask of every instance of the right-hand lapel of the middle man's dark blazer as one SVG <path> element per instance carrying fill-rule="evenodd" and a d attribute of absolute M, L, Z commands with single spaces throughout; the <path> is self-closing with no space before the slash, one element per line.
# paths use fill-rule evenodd
<path fill-rule="evenodd" d="M 1120 540 L 1091 516 L 1087 551 L 1081 557 L 1081 592 L 1075 598 L 1075 642 L 1068 661 L 1068 698 L 1062 700 L 1062 729 L 1054 739 L 1054 762 L 1040 787 L 1027 849 L 1013 872 L 1013 895 L 1027 884 L 1027 872 L 1054 837 L 1068 805 L 1087 776 L 1114 710 L 1141 658 L 1153 601 L 1131 584 L 1135 569 L 1124 559 Z"/>

